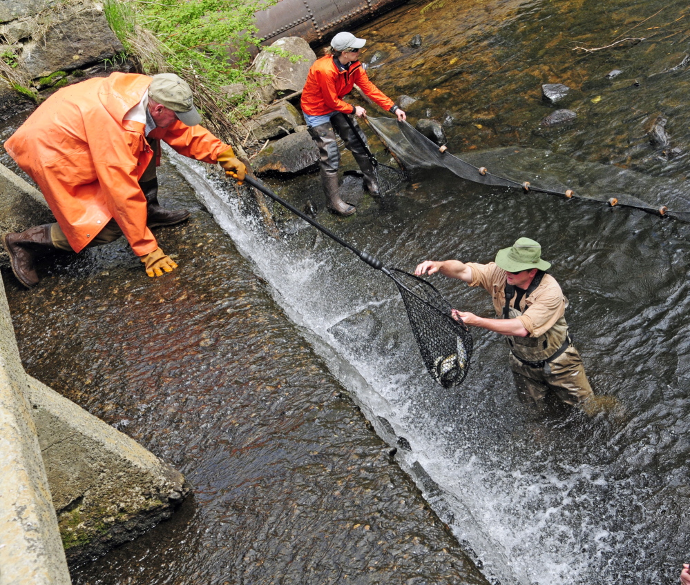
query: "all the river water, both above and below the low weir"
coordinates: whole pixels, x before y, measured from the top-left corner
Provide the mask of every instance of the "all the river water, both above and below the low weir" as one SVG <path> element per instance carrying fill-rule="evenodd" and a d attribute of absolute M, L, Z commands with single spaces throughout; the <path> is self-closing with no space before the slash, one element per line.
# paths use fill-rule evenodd
<path fill-rule="evenodd" d="M 450 152 L 528 147 L 544 152 L 545 166 L 558 155 L 574 161 L 575 168 L 583 163 L 583 173 L 595 175 L 591 163 L 597 163 L 653 181 L 685 181 L 690 72 L 679 65 L 690 54 L 686 3 L 445 0 L 423 10 L 425 4 L 409 3 L 355 32 L 370 39 L 364 61 L 380 52 L 372 66 L 377 85 L 394 98 L 418 99 L 408 109 L 412 123 L 420 117 L 446 121 Z M 421 34 L 419 48 L 408 46 L 414 34 Z M 626 38 L 644 40 L 604 48 Z M 622 73 L 606 78 L 612 70 Z M 573 88 L 558 106 L 577 112 L 573 123 L 539 125 L 555 109 L 541 101 L 542 83 Z M 647 132 L 659 115 L 668 119 L 671 146 L 681 149 L 673 157 L 664 154 L 669 148 L 649 142 Z M 376 139 L 371 142 L 387 161 Z M 348 177 L 350 196 L 361 199 L 356 216 L 319 213 L 319 221 L 357 248 L 408 270 L 429 258 L 490 261 L 518 237 L 539 241 L 570 301 L 566 317 L 595 392 L 607 397 L 611 408 L 586 417 L 554 405 L 553 412 L 537 415 L 517 401 L 499 336 L 475 330 L 468 379 L 461 388 L 443 390 L 423 370 L 390 279 L 277 208 L 282 237 L 269 237 L 246 197 L 238 199 L 227 183 L 206 177 L 202 168 L 177 159 L 175 164 L 249 263 L 229 252 L 211 228 L 189 224 L 161 232 L 164 249 L 166 243 L 180 249 L 184 262 L 178 276 L 155 284 L 137 279 L 141 268 L 121 246 L 59 264 L 53 277 L 64 290 L 24 293 L 8 287 L 20 344 L 27 353 L 32 350 L 26 359 L 30 373 L 69 388 L 75 366 L 60 363 L 61 351 L 67 346 L 75 355 L 88 355 L 89 364 L 76 368 L 84 385 L 70 397 L 200 485 L 172 522 L 80 568 L 75 582 L 222 583 L 226 577 L 229 583 L 271 582 L 271 577 L 349 582 L 355 579 L 342 567 L 345 557 L 356 557 L 353 542 L 368 543 L 362 546 L 372 551 L 355 563 L 356 582 L 415 582 L 408 581 L 415 575 L 428 582 L 472 582 L 471 568 L 463 568 L 463 576 L 444 573 L 455 571 L 462 555 L 452 549 L 452 563 L 443 557 L 448 543 L 443 526 L 430 516 L 414 521 L 427 526 L 423 529 L 403 522 L 410 510 L 422 509 L 419 505 L 389 512 L 400 524 L 381 521 L 379 528 L 399 539 L 387 550 L 402 551 L 406 542 L 421 547 L 413 547 L 408 559 L 377 556 L 375 542 L 357 539 L 356 530 L 374 525 L 370 516 L 338 516 L 346 533 L 323 526 L 338 504 L 315 493 L 314 486 L 329 476 L 329 461 L 338 459 L 311 455 L 325 440 L 321 430 L 337 435 L 341 457 L 373 458 L 371 466 L 356 468 L 370 474 L 372 502 L 383 493 L 372 478 L 394 476 L 397 468 L 372 455 L 383 443 L 350 434 L 361 425 L 343 423 L 343 428 L 336 422 L 334 430 L 322 426 L 316 413 L 297 422 L 292 410 L 281 410 L 282 395 L 299 386 L 305 372 L 313 376 L 307 386 L 318 391 L 301 408 L 313 412 L 323 403 L 328 412 L 337 410 L 336 388 L 345 386 L 378 434 L 399 446 L 396 460 L 454 537 L 479 559 L 490 582 L 603 585 L 677 578 L 690 554 L 688 224 L 595 202 L 478 186 L 443 172 L 420 173 L 416 188 L 390 201 L 362 197 Z M 343 166 L 354 168 L 349 155 Z M 549 166 L 549 172 L 558 168 Z M 568 177 L 557 178 L 568 184 Z M 169 181 L 171 190 L 175 182 Z M 309 200 L 323 206 L 316 175 L 268 182 L 300 207 Z M 180 203 L 174 197 L 168 202 Z M 200 217 L 195 213 L 195 221 Z M 70 279 L 77 284 L 68 284 Z M 129 284 L 118 285 L 118 279 Z M 244 281 L 249 284 L 242 286 Z M 432 282 L 456 308 L 492 315 L 483 291 L 441 277 Z M 229 293 L 217 292 L 225 286 L 240 287 L 231 305 Z M 267 294 L 280 308 L 271 306 Z M 73 305 L 64 313 L 52 309 L 51 315 L 55 295 L 71 297 Z M 146 299 L 155 299 L 155 307 Z M 118 321 L 117 306 L 125 303 L 136 308 L 132 324 Z M 274 320 L 276 312 L 285 312 L 297 328 Z M 256 334 L 254 325 L 268 333 Z M 60 341 L 65 332 L 70 341 Z M 91 339 L 84 348 L 82 337 Z M 148 349 L 142 349 L 142 339 Z M 111 344 L 119 348 L 117 357 L 108 352 Z M 154 349 L 159 345 L 164 349 Z M 148 363 L 148 351 L 157 356 L 155 364 Z M 295 364 L 295 372 L 286 373 L 286 363 Z M 323 388 L 315 382 L 321 379 Z M 232 393 L 224 390 L 229 386 Z M 255 429 L 251 414 L 258 400 L 264 407 L 262 426 Z M 271 492 L 267 486 L 275 476 L 266 470 L 278 469 L 287 457 L 262 442 L 262 433 L 276 421 L 286 429 L 309 425 L 304 444 L 288 433 L 285 452 L 296 453 L 290 457 L 300 462 L 316 457 L 320 467 L 317 473 L 307 464 L 297 466 L 288 474 L 296 487 L 276 483 Z M 246 447 L 234 453 L 245 466 L 236 473 L 225 457 L 240 431 Z M 382 460 L 385 471 L 374 464 Z M 253 466 L 255 475 L 246 471 Z M 348 487 L 364 497 L 366 489 L 356 487 L 360 479 Z M 402 480 L 391 483 L 400 486 Z M 298 506 L 280 503 L 281 493 L 283 502 L 295 500 Z M 393 501 L 400 499 L 405 498 Z M 374 508 L 367 508 L 368 514 Z M 276 522 L 289 538 L 271 532 Z M 259 544 L 246 546 L 238 537 L 242 531 Z M 318 541 L 323 532 L 339 535 L 338 545 Z M 413 535 L 416 541 L 405 540 Z M 325 551 L 333 550 L 347 552 L 329 562 Z M 313 551 L 318 561 L 303 564 Z M 374 566 L 372 559 L 388 572 L 370 577 L 365 571 Z M 396 562 L 406 563 L 399 573 Z M 231 568 L 224 573 L 222 567 Z"/>

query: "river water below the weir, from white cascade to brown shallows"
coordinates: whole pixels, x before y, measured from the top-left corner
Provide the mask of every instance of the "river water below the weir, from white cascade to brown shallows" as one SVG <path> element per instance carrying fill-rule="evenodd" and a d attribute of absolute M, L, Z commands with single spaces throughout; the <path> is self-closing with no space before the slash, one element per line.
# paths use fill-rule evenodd
<path fill-rule="evenodd" d="M 559 177 L 549 157 L 568 157 L 568 174 L 580 161 L 579 181 L 595 180 L 596 165 L 602 173 L 615 165 L 649 181 L 685 181 L 687 3 L 446 0 L 424 7 L 408 4 L 356 34 L 370 39 L 363 60 L 376 54 L 374 81 L 392 97 L 418 99 L 408 109 L 412 123 L 444 122 L 450 152 L 537 149 L 565 185 L 566 170 Z M 408 46 L 418 33 L 421 46 Z M 621 72 L 607 77 L 613 70 Z M 542 102 L 542 83 L 572 88 L 557 107 L 575 111 L 573 123 L 540 126 L 556 109 Z M 665 147 L 648 135 L 659 116 L 668 120 Z M 530 413 L 515 396 L 506 346 L 481 330 L 466 383 L 441 389 L 423 370 L 401 299 L 384 275 L 288 215 L 290 237 L 258 237 L 239 219 L 235 195 L 220 186 L 208 201 L 289 314 L 315 333 L 332 368 L 341 361 L 356 368 L 361 379 L 345 373 L 345 384 L 380 417 L 384 437 L 409 442 L 400 451 L 405 464 L 490 580 L 675 580 L 690 555 L 690 226 L 443 172 L 415 180 L 393 201 L 363 197 L 356 219 L 319 219 L 356 248 L 408 270 L 429 258 L 490 261 L 520 236 L 536 239 L 570 300 L 568 323 L 608 410 L 591 418 Z M 314 175 L 271 184 L 294 203 L 320 201 Z M 433 282 L 457 308 L 492 315 L 483 291 Z"/>

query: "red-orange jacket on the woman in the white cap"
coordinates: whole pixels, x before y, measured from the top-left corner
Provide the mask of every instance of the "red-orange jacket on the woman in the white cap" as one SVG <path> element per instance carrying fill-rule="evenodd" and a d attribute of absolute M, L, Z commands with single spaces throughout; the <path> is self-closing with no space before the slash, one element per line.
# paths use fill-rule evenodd
<path fill-rule="evenodd" d="M 353 61 L 341 71 L 333 61 L 333 55 L 316 59 L 307 75 L 302 92 L 302 111 L 309 116 L 325 116 L 332 112 L 353 114 L 354 106 L 343 101 L 356 83 L 364 95 L 378 103 L 384 110 L 390 110 L 393 101 L 369 81 L 367 72 L 359 61 Z"/>

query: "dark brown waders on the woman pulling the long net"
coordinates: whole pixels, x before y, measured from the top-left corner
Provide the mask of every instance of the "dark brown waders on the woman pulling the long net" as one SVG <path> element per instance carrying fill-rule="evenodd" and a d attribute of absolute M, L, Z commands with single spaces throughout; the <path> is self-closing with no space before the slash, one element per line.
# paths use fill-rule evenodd
<path fill-rule="evenodd" d="M 358 135 L 366 143 L 366 136 L 359 128 L 357 121 L 352 119 Z M 378 195 L 378 183 L 367 153 L 358 140 L 352 128 L 350 128 L 345 114 L 338 112 L 331 116 L 331 120 L 325 124 L 319 124 L 309 128 L 309 134 L 316 142 L 319 154 L 319 170 L 321 184 L 329 201 L 329 207 L 340 215 L 352 215 L 356 208 L 341 199 L 338 194 L 338 166 L 341 162 L 341 152 L 336 142 L 336 132 L 345 142 L 345 147 L 352 152 L 364 175 L 364 183 L 372 195 Z"/>

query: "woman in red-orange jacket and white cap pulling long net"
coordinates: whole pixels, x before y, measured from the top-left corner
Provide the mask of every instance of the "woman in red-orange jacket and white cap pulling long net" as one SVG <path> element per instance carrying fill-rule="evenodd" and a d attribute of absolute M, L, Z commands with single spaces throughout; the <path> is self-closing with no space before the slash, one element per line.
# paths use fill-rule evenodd
<path fill-rule="evenodd" d="M 366 117 L 367 110 L 361 106 L 343 101 L 356 84 L 364 95 L 384 110 L 392 112 L 399 121 L 405 120 L 405 112 L 386 97 L 367 77 L 362 63 L 357 58 L 367 41 L 358 39 L 351 32 L 338 32 L 331 41 L 331 52 L 317 59 L 309 69 L 307 82 L 302 92 L 302 111 L 307 121 L 309 134 L 318 146 L 319 166 L 323 190 L 330 208 L 340 215 L 352 215 L 356 209 L 346 204 L 338 195 L 338 166 L 341 154 L 336 143 L 336 132 L 352 151 L 354 159 L 364 174 L 364 183 L 372 195 L 378 195 L 378 184 L 367 152 L 347 123 L 351 117 L 356 132 L 366 144 L 367 138 L 359 128 L 356 117 Z"/>

